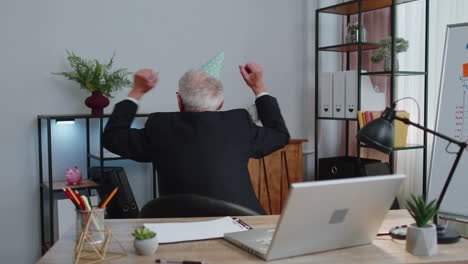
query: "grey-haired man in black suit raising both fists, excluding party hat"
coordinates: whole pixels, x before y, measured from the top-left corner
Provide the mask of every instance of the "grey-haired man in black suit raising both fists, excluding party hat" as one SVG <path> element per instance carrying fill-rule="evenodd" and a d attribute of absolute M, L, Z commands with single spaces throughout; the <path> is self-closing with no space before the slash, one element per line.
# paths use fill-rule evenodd
<path fill-rule="evenodd" d="M 130 128 L 137 102 L 158 82 L 150 69 L 138 71 L 126 100 L 115 105 L 104 146 L 125 158 L 153 162 L 160 195 L 194 193 L 265 213 L 250 182 L 249 158 L 266 156 L 289 142 L 276 99 L 265 90 L 263 69 L 252 62 L 239 66 L 256 95 L 263 127 L 244 109 L 217 111 L 222 84 L 203 71 L 189 71 L 179 81 L 180 112 L 153 113 L 145 128 Z"/>

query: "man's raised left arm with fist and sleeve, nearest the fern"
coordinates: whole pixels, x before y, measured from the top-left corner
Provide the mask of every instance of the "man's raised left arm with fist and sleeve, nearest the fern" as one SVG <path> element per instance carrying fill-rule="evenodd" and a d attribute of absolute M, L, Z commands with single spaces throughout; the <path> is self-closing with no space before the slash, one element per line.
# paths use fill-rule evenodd
<path fill-rule="evenodd" d="M 136 102 L 153 89 L 159 80 L 159 74 L 150 69 L 139 70 L 134 76 L 133 89 L 128 99 L 115 105 L 103 134 L 103 145 L 108 150 L 122 157 L 136 161 L 151 161 L 151 135 L 146 122 L 143 129 L 130 128 L 138 105 Z"/>

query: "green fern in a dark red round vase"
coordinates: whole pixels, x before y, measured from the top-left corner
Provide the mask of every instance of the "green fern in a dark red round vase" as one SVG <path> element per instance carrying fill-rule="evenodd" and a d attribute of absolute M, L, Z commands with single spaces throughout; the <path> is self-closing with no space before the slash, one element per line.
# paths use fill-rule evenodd
<path fill-rule="evenodd" d="M 92 95 L 86 98 L 86 106 L 92 109 L 93 115 L 102 115 L 104 108 L 109 105 L 108 97 L 112 98 L 113 92 L 131 84 L 127 78 L 130 72 L 125 68 L 112 70 L 115 54 L 107 64 L 103 64 L 96 59 L 83 59 L 73 52 L 66 52 L 72 71 L 52 74 L 65 76 L 88 90 Z"/>

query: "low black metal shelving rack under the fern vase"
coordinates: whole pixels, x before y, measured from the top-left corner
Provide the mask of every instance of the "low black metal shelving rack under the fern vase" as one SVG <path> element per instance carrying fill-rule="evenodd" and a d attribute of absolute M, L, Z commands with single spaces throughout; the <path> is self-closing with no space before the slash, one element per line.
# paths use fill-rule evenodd
<path fill-rule="evenodd" d="M 136 114 L 136 117 L 148 117 L 150 114 Z M 90 196 L 92 189 L 99 188 L 99 185 L 94 181 L 89 179 L 88 170 L 83 171 L 83 174 L 86 175 L 82 183 L 79 185 L 67 185 L 66 181 L 54 181 L 53 180 L 53 153 L 52 153 L 52 130 L 51 123 L 52 121 L 64 121 L 64 120 L 76 120 L 84 119 L 86 122 L 86 166 L 87 169 L 91 167 L 91 159 L 99 161 L 99 166 L 101 168 L 101 173 L 103 172 L 104 162 L 111 160 L 124 160 L 125 158 L 119 157 L 116 155 L 106 156 L 107 153 L 104 152 L 104 147 L 102 145 L 102 132 L 104 131 L 104 119 L 109 118 L 110 115 L 38 115 L 37 116 L 37 133 L 38 133 L 38 152 L 39 152 L 39 201 L 40 201 L 40 222 L 41 222 L 41 245 L 42 253 L 45 253 L 54 243 L 55 243 L 55 234 L 54 234 L 54 200 L 56 199 L 65 199 L 66 197 L 62 194 L 62 188 L 71 188 L 73 190 L 83 190 L 87 192 L 87 195 Z M 91 153 L 90 147 L 90 120 L 98 119 L 99 120 L 99 153 Z M 43 157 L 43 138 L 42 138 L 42 126 L 43 122 L 46 123 L 46 137 L 47 137 L 47 157 Z M 104 157 L 104 158 L 101 158 Z M 44 179 L 44 160 L 47 162 L 47 178 Z M 153 168 L 153 197 L 156 197 L 156 173 Z M 47 198 L 47 203 L 45 199 Z M 47 208 L 46 208 L 47 204 Z M 48 212 L 48 223 L 45 221 L 46 212 Z M 49 232 L 46 234 L 46 224 L 48 226 Z"/>

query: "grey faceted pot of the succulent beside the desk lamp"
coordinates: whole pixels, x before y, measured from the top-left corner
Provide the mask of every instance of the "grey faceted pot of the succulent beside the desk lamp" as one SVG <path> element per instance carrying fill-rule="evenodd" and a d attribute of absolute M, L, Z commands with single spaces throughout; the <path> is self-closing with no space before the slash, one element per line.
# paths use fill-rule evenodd
<path fill-rule="evenodd" d="M 408 226 L 406 233 L 406 251 L 415 256 L 431 256 L 437 254 L 437 230 L 434 224 L 418 227 Z"/>

